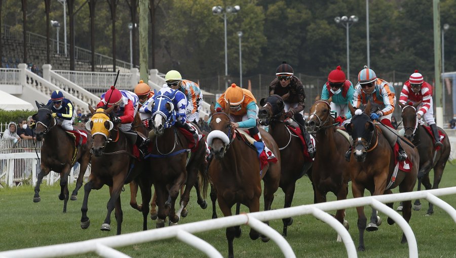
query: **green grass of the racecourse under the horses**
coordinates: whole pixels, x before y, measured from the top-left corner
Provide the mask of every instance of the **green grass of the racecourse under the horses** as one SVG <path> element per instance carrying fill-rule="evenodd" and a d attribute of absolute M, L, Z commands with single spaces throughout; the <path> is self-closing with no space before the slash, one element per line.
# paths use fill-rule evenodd
<path fill-rule="evenodd" d="M 433 172 L 431 172 L 433 177 Z M 440 188 L 456 185 L 456 168 L 448 164 Z M 72 190 L 74 185 L 70 186 Z M 349 187 L 350 188 L 350 187 Z M 398 192 L 397 189 L 394 192 Z M 80 227 L 81 204 L 84 190 L 80 190 L 77 201 L 69 201 L 67 213 L 63 214 L 63 202 L 58 200 L 59 187 L 43 186 L 41 189 L 42 201 L 33 203 L 33 189 L 31 186 L 0 189 L 0 251 L 26 247 L 44 246 L 59 243 L 82 241 L 116 234 L 116 220 L 111 215 L 111 231 L 102 232 L 100 226 L 106 215 L 106 202 L 108 188 L 93 190 L 89 197 L 88 216 L 91 226 L 87 230 Z M 142 215 L 129 205 L 129 188 L 122 193 L 123 204 L 123 232 L 130 233 L 141 231 Z M 352 198 L 352 192 L 348 195 Z M 281 189 L 276 193 L 273 208 L 283 207 L 284 194 Z M 207 198 L 208 200 L 209 197 Z M 442 197 L 453 207 L 456 207 L 456 195 Z M 333 194 L 328 194 L 328 201 L 335 200 Z M 138 201 L 140 199 L 138 197 Z M 262 200 L 261 200 L 262 202 Z M 298 181 L 294 195 L 293 206 L 310 204 L 313 202 L 312 186 L 308 178 Z M 439 207 L 435 207 L 432 216 L 424 216 L 428 202 L 422 200 L 423 209 L 413 211 L 410 226 L 415 233 L 420 257 L 453 257 L 456 258 L 456 224 Z M 395 203 L 395 207 L 397 207 Z M 180 223 L 189 223 L 210 219 L 210 206 L 203 210 L 196 204 L 196 194 L 192 191 L 191 203 L 187 206 L 189 213 Z M 369 208 L 366 207 L 365 210 Z M 247 209 L 242 207 L 242 212 Z M 333 213 L 333 212 L 331 212 Z M 217 210 L 222 217 L 220 210 Z M 367 214 L 367 212 L 366 212 Z M 368 216 L 368 214 L 367 214 Z M 389 226 L 386 216 L 381 214 L 385 223 L 376 232 L 365 233 L 366 251 L 359 252 L 359 257 L 408 257 L 407 244 L 401 244 L 402 231 L 397 226 Z M 350 223 L 350 235 L 357 246 L 358 229 L 355 208 L 347 210 L 347 220 Z M 297 257 L 347 257 L 343 243 L 337 243 L 336 233 L 328 225 L 316 220 L 313 216 L 295 217 L 293 225 L 288 227 L 286 238 L 296 253 Z M 282 233 L 282 221 L 270 222 L 271 227 Z M 155 228 L 155 221 L 149 222 L 148 228 Z M 234 240 L 234 253 L 236 257 L 282 257 L 278 246 L 270 241 L 263 243 L 261 240 L 250 240 L 249 227 L 242 226 L 241 238 Z M 227 243 L 225 229 L 213 230 L 197 234 L 198 237 L 212 244 L 223 256 L 227 256 Z M 174 239 L 162 240 L 146 244 L 119 248 L 122 252 L 132 257 L 202 257 L 204 254 Z M 96 254 L 84 254 L 74 257 L 97 257 Z"/>

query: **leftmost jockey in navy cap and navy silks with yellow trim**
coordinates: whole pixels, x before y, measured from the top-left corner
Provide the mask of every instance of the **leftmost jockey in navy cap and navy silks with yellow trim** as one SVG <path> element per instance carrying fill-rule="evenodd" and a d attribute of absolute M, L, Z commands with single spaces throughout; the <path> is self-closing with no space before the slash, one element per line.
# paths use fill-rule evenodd
<path fill-rule="evenodd" d="M 52 92 L 51 99 L 48 101 L 47 105 L 49 105 L 51 102 L 54 104 L 51 107 L 52 117 L 55 118 L 57 124 L 61 124 L 63 130 L 65 131 L 72 131 L 72 123 L 75 113 L 74 106 L 71 101 L 64 98 L 61 91 L 54 91 Z"/>

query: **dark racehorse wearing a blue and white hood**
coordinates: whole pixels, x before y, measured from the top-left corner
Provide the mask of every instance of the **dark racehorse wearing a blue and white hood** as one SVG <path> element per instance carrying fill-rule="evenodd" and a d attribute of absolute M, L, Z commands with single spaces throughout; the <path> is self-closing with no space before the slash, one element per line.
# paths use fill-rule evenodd
<path fill-rule="evenodd" d="M 171 223 L 176 224 L 189 201 L 192 187 L 197 187 L 197 193 L 202 190 L 203 196 L 205 196 L 209 182 L 208 175 L 204 173 L 205 169 L 201 169 L 206 155 L 204 141 L 200 140 L 196 143 L 198 147 L 192 151 L 188 148 L 187 138 L 174 125 L 175 111 L 172 99 L 176 92 L 156 96 L 149 108 L 152 110 L 149 125 L 156 136 L 150 153 L 150 156 L 154 158 L 154 172 L 149 175 L 151 178 L 148 182 L 154 184 L 157 194 L 157 216 L 159 218 L 157 228 L 164 227 L 166 217 L 169 217 L 170 225 Z M 198 184 L 198 178 L 201 181 L 200 184 Z M 179 189 L 184 184 L 185 190 L 179 201 L 179 210 L 176 212 L 175 201 Z M 150 187 L 151 185 L 148 186 L 149 189 Z M 206 208 L 207 203 L 200 198 L 198 203 L 201 207 Z M 150 201 L 150 197 L 148 200 L 143 199 L 143 203 L 148 203 L 148 201 Z M 186 216 L 186 213 L 184 215 Z"/>

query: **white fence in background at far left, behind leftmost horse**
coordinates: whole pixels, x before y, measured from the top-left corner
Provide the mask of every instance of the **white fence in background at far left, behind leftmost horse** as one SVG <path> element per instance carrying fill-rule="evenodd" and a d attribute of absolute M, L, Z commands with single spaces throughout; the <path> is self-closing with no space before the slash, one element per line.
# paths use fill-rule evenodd
<path fill-rule="evenodd" d="M 42 142 L 21 140 L 14 144 L 12 141 L 0 141 L 0 187 L 13 187 L 23 184 L 35 185 L 40 172 Z M 36 150 L 36 152 L 35 152 Z M 79 163 L 71 168 L 68 183 L 75 183 L 79 176 Z M 90 166 L 84 175 L 88 178 Z M 53 185 L 60 179 L 59 174 L 51 171 L 43 178 L 43 182 Z"/>

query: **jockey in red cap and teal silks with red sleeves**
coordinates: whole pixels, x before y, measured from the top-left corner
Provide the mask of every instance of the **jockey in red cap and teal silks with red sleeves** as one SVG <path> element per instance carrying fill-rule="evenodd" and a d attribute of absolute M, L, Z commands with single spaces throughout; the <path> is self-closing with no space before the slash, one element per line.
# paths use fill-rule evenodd
<path fill-rule="evenodd" d="M 354 91 L 353 83 L 346 79 L 340 65 L 329 73 L 328 81 L 323 85 L 321 99 L 327 100 L 332 97 L 329 106 L 339 115 L 335 118 L 339 125 L 352 118 L 348 104 L 353 102 Z"/>

